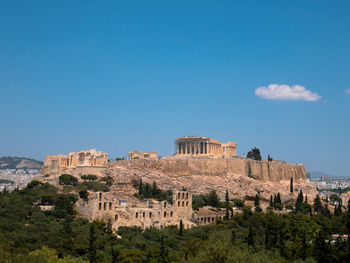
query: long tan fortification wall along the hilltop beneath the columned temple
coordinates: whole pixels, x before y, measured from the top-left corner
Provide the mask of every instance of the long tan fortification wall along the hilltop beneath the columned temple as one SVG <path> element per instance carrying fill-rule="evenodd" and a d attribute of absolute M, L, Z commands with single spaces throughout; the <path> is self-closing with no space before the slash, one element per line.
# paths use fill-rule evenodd
<path fill-rule="evenodd" d="M 166 157 L 160 160 L 134 161 L 133 166 L 155 169 L 179 176 L 239 174 L 258 180 L 304 180 L 305 166 L 282 161 L 254 161 L 245 158 Z"/>

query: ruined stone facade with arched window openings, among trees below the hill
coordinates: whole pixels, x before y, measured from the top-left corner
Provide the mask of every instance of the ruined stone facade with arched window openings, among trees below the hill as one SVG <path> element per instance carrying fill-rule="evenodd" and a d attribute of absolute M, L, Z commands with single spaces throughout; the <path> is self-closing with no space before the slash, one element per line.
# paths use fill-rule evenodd
<path fill-rule="evenodd" d="M 89 220 L 111 222 L 114 230 L 120 226 L 160 229 L 169 225 L 179 226 L 180 220 L 184 228 L 196 226 L 192 221 L 195 218 L 192 195 L 186 191 L 174 192 L 171 203 L 154 199 L 138 200 L 125 195 L 122 189 L 114 193 L 91 192 L 88 202 L 81 199 L 77 202 L 77 209 Z"/>

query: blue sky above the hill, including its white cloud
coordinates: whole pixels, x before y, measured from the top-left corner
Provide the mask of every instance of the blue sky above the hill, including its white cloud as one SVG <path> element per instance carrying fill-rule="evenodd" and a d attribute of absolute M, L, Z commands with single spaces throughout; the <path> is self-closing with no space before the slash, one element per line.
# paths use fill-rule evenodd
<path fill-rule="evenodd" d="M 164 156 L 201 135 L 350 176 L 349 13 L 349 1 L 1 1 L 0 155 Z"/>

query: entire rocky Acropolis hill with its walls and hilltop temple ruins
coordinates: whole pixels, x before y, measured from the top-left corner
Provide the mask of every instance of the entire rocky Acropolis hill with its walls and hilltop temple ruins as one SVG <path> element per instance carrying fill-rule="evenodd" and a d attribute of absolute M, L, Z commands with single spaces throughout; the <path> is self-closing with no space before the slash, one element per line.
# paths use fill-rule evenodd
<path fill-rule="evenodd" d="M 45 159 L 43 174 L 52 174 L 48 181 L 57 180 L 61 173 L 75 176 L 96 174 L 111 176 L 116 184 L 131 183 L 142 180 L 145 183 L 156 182 L 163 190 L 181 190 L 186 188 L 193 194 L 208 193 L 216 189 L 224 198 L 228 190 L 232 198 L 253 200 L 259 194 L 262 202 L 269 200 L 270 195 L 280 193 L 283 202 L 291 203 L 296 199 L 299 189 L 313 200 L 316 188 L 306 179 L 305 166 L 283 161 L 255 161 L 236 156 L 237 144 L 220 143 L 208 137 L 186 136 L 176 139 L 176 153 L 173 156 L 158 158 L 157 153 L 128 154 L 128 160 L 107 162 L 102 152 L 80 152 L 76 166 L 58 167 L 53 161 L 55 156 Z M 70 154 L 74 160 L 74 153 Z M 95 165 L 95 160 L 100 160 Z M 89 161 L 84 158 L 88 158 Z M 56 158 L 62 158 L 62 155 Z M 70 158 L 64 157 L 64 160 Z M 101 162 L 104 162 L 101 165 Z M 51 165 L 51 166 L 50 166 Z M 50 171 L 50 167 L 54 169 Z M 294 192 L 290 193 L 290 179 L 294 179 Z M 55 179 L 56 178 L 56 179 Z"/>

